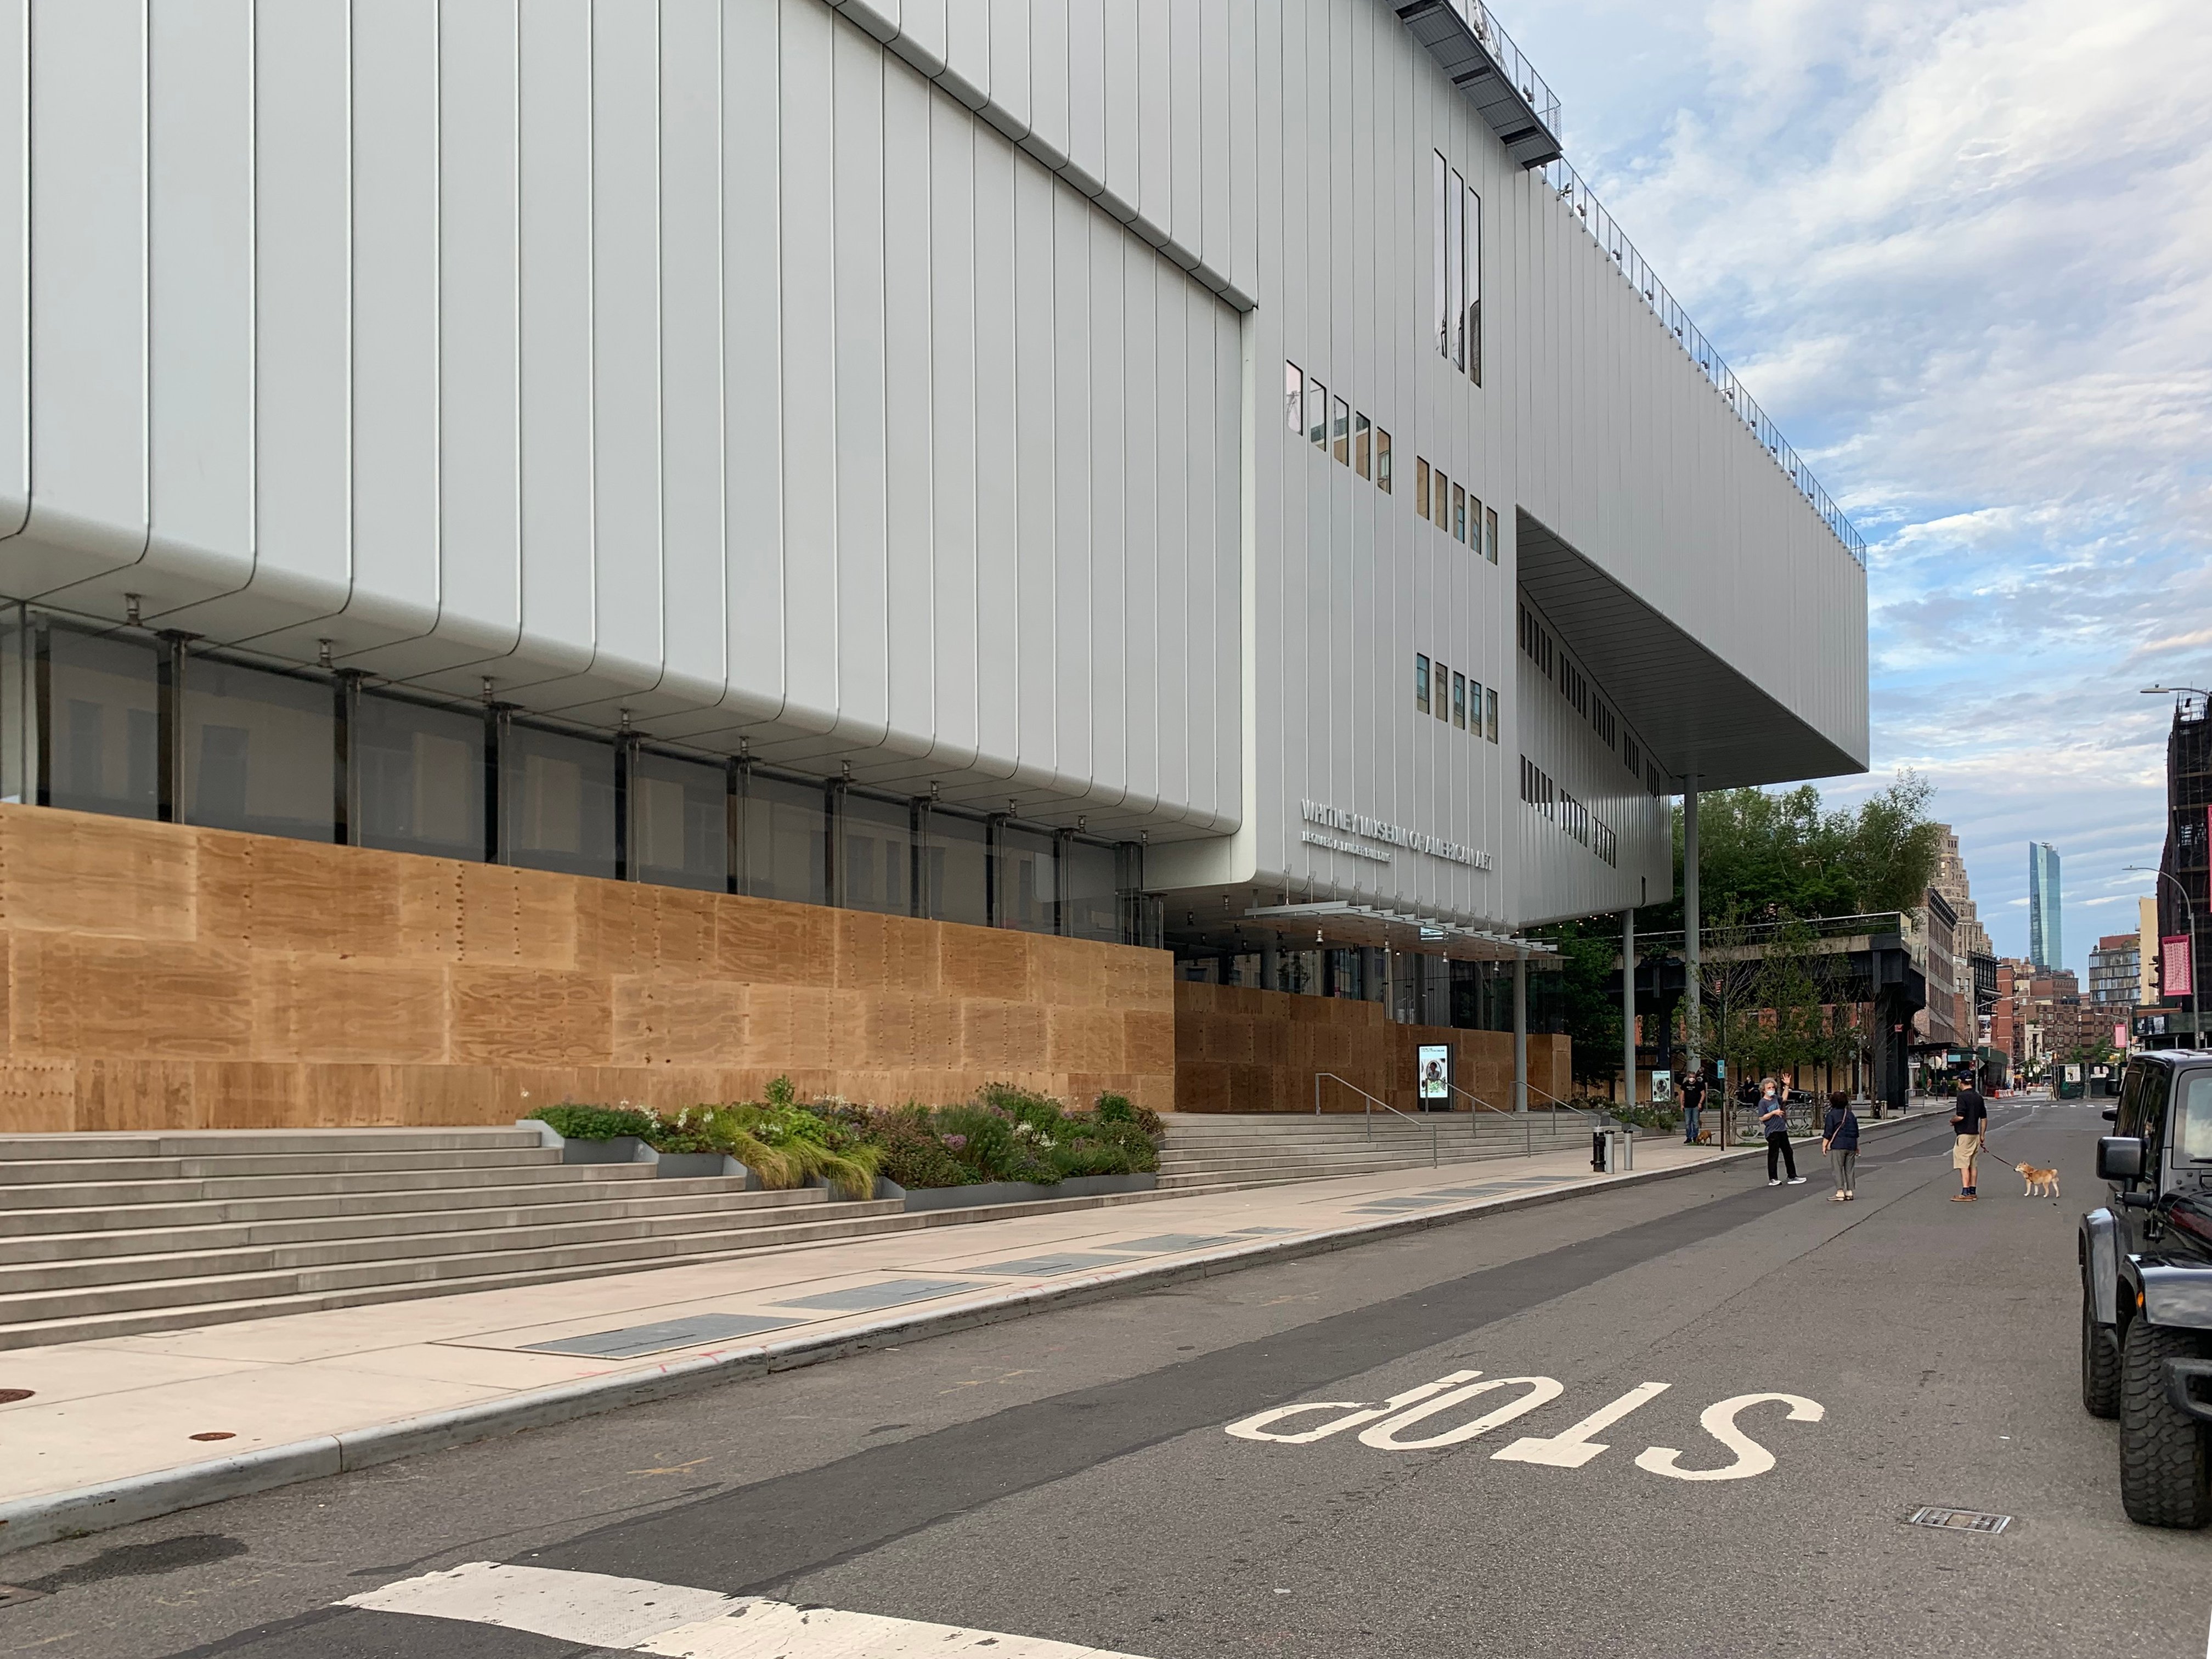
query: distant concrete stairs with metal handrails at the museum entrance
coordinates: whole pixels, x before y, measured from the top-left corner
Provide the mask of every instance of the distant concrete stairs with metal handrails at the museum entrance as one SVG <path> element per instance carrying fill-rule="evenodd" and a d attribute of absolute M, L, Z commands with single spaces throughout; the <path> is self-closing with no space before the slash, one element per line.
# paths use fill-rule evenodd
<path fill-rule="evenodd" d="M 1444 1164 L 1590 1150 L 1577 1113 L 1168 1113 L 1164 1190 L 1208 1190 L 1380 1175 Z M 1433 1137 L 1433 1139 L 1431 1139 Z"/>

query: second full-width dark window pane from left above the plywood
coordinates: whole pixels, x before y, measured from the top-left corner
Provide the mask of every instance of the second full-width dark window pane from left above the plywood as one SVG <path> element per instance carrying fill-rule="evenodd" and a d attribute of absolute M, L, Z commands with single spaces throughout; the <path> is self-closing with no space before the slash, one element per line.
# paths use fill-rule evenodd
<path fill-rule="evenodd" d="M 330 681 L 190 657 L 184 821 L 336 841 L 336 807 L 338 717 Z"/>

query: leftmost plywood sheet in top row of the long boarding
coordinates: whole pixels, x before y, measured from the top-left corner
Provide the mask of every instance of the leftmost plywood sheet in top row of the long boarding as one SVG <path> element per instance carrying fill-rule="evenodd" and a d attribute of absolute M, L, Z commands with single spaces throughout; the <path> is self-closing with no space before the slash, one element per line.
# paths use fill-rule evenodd
<path fill-rule="evenodd" d="M 0 925 L 188 940 L 197 847 L 177 825 L 0 803 Z"/>

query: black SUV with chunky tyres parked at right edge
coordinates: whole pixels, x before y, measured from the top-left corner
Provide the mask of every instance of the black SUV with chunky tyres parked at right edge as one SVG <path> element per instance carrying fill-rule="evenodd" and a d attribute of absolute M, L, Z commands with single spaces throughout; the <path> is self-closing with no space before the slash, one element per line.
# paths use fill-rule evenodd
<path fill-rule="evenodd" d="M 2081 1405 L 2119 1418 L 2119 1495 L 2146 1526 L 2212 1522 L 2212 1051 L 2137 1055 L 2081 1217 Z"/>

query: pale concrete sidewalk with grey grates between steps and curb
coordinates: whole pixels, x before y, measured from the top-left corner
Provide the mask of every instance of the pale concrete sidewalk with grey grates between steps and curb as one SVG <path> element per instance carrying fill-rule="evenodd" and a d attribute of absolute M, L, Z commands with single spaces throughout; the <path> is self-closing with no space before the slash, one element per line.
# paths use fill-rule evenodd
<path fill-rule="evenodd" d="M 1637 1141 L 1628 1175 L 1597 1177 L 1584 1152 L 1555 1152 L 24 1347 L 0 1354 L 0 1394 L 29 1391 L 0 1405 L 0 1553 L 880 1343 L 1763 1150 L 1655 1137 Z"/>

